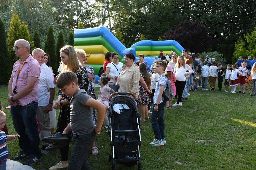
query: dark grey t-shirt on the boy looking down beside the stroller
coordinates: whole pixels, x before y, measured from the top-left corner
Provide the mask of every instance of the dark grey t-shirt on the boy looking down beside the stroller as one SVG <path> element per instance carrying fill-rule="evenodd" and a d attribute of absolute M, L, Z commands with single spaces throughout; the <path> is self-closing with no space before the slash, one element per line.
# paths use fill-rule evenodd
<path fill-rule="evenodd" d="M 70 101 L 70 125 L 74 135 L 88 135 L 94 132 L 93 108 L 84 105 L 91 96 L 80 89 Z"/>

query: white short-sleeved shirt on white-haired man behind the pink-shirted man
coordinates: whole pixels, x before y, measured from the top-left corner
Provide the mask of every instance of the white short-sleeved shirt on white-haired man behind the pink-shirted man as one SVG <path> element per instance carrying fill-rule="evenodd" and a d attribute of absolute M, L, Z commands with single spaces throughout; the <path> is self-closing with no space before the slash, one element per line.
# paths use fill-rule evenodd
<path fill-rule="evenodd" d="M 53 83 L 53 73 L 51 69 L 43 63 L 41 65 L 41 74 L 37 90 L 38 106 L 48 105 L 48 88 L 55 88 L 55 84 Z"/>

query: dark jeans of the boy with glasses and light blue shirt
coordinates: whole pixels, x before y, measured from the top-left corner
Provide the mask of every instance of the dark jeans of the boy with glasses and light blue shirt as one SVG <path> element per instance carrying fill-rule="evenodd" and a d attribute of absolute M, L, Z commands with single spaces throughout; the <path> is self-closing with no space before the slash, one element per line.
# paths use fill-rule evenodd
<path fill-rule="evenodd" d="M 155 107 L 155 104 L 153 105 L 153 108 Z M 159 103 L 157 112 L 152 110 L 152 114 L 150 117 L 150 124 L 152 126 L 152 129 L 154 131 L 155 138 L 157 140 L 164 139 L 164 107 L 165 103 Z"/>

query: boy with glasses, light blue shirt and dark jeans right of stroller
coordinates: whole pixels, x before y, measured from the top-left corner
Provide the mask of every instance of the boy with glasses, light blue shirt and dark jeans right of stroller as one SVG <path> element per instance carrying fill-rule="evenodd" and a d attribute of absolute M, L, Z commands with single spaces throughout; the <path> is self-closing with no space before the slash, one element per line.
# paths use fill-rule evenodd
<path fill-rule="evenodd" d="M 156 89 L 153 97 L 153 110 L 150 117 L 150 124 L 154 131 L 155 139 L 150 143 L 151 146 L 161 146 L 166 143 L 164 136 L 164 107 L 165 102 L 163 99 L 163 92 L 167 86 L 167 78 L 165 78 L 164 70 L 166 69 L 167 63 L 164 60 L 155 61 L 155 73 L 159 76 L 163 75 L 164 77 L 159 77 L 156 83 Z"/>

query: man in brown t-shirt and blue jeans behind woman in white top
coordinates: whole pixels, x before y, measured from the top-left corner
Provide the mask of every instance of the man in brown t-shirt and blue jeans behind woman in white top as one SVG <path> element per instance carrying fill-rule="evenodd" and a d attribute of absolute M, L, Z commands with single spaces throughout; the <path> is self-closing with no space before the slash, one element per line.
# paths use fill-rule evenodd
<path fill-rule="evenodd" d="M 193 67 L 192 53 L 190 52 L 188 54 L 187 50 L 184 49 L 184 50 L 182 50 L 182 56 L 185 58 L 186 64 L 192 68 Z M 189 71 L 187 70 L 186 72 L 189 72 Z M 187 95 L 188 95 L 188 90 L 189 90 L 189 87 L 192 85 L 192 83 L 193 83 L 193 76 L 191 74 L 186 75 L 186 86 L 183 90 L 182 102 L 186 101 Z"/>

